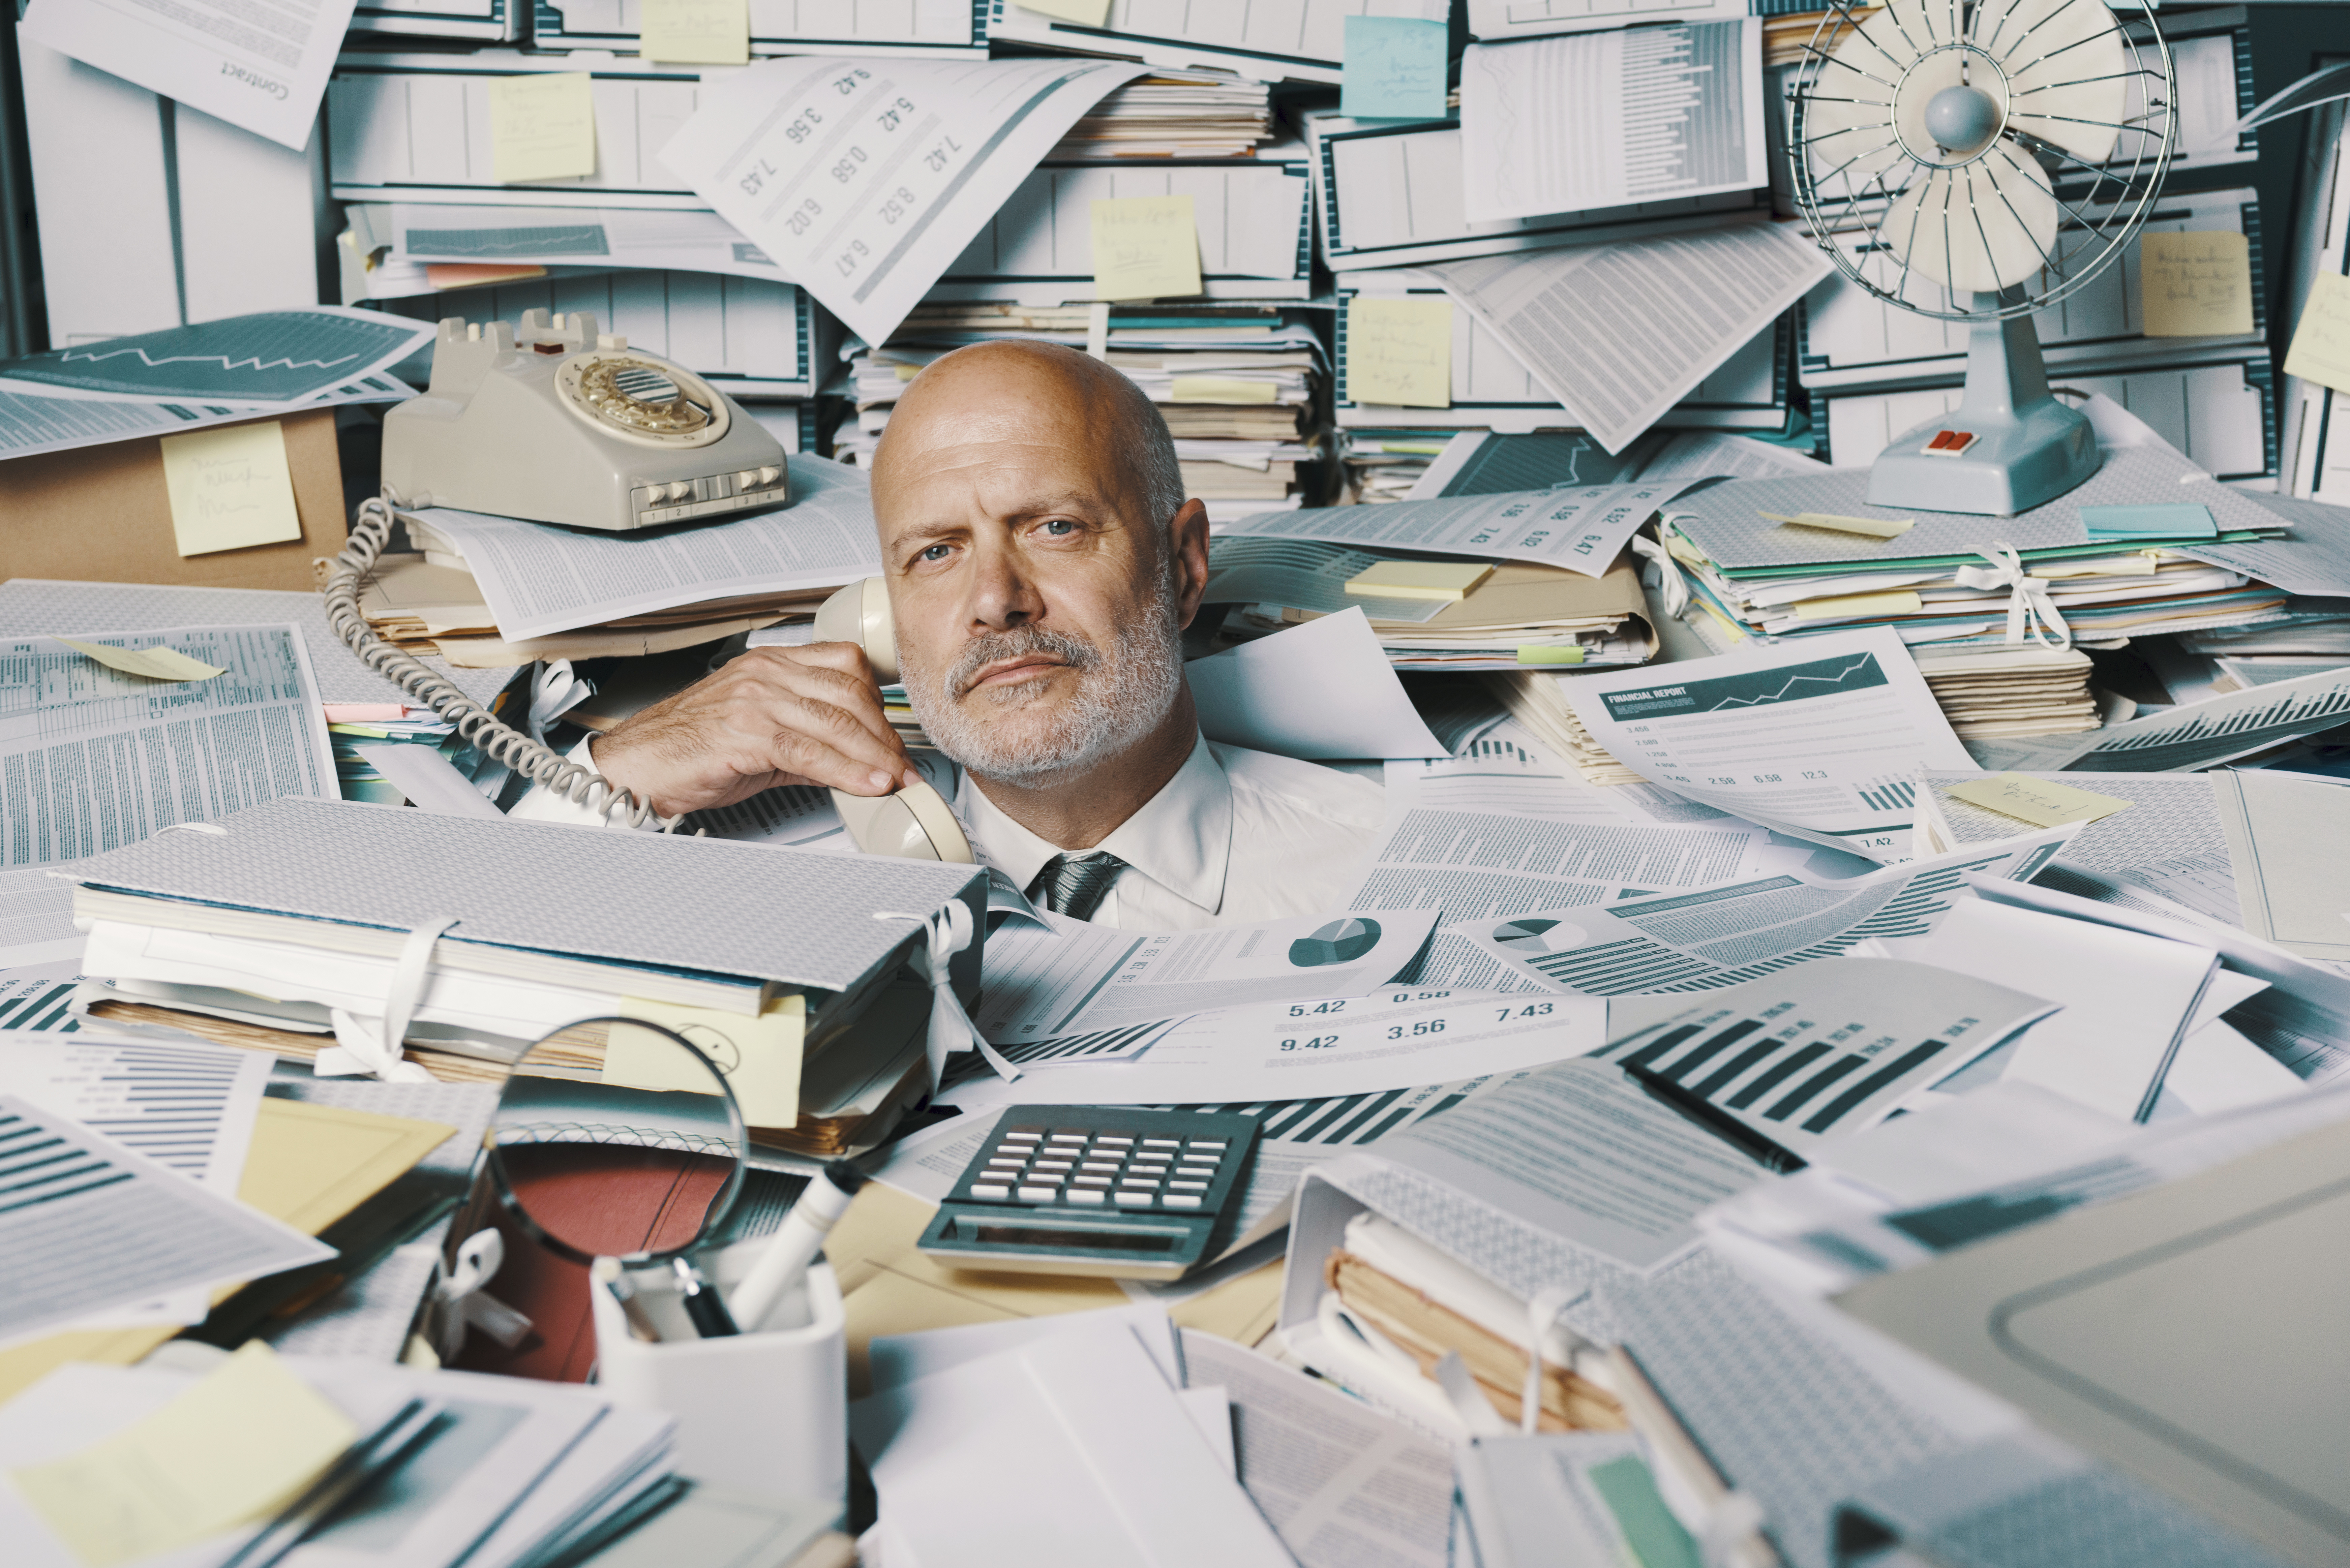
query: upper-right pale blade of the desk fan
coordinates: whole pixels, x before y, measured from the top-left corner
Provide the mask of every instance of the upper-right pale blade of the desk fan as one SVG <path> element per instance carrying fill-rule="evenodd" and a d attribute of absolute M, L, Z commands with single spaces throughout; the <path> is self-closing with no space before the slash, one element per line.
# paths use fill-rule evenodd
<path fill-rule="evenodd" d="M 2106 162 L 2129 99 L 2122 28 L 2099 0 L 1988 0 L 1976 45 L 2007 73 L 2007 122 Z"/>

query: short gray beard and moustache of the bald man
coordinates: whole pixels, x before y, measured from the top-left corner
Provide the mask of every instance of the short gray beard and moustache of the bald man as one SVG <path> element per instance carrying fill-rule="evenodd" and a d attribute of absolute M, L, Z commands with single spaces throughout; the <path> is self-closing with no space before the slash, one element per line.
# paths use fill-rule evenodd
<path fill-rule="evenodd" d="M 931 745 L 980 778 L 1050 788 L 1076 778 L 1149 736 L 1182 693 L 1182 632 L 1161 597 L 1140 623 L 1121 625 L 1104 654 L 1074 632 L 1025 625 L 971 642 L 945 677 L 898 651 L 905 696 Z M 968 693 L 973 677 L 999 658 L 1050 654 L 1076 672 L 1076 693 L 1058 705 L 1043 733 L 1010 733 L 989 710 L 1015 715 L 1041 701 L 1048 677 Z"/>

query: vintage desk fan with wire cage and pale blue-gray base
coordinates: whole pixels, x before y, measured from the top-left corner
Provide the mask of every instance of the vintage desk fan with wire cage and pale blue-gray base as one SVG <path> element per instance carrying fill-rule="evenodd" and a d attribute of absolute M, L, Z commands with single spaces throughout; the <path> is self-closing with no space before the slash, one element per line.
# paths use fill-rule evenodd
<path fill-rule="evenodd" d="M 1795 205 L 1845 277 L 1969 324 L 1958 411 L 1878 456 L 1868 503 L 2054 501 L 2099 451 L 2030 317 L 2120 261 L 2162 190 L 2176 92 L 2153 9 L 2124 0 L 2124 28 L 2101 0 L 1833 5 L 1788 85 Z"/>

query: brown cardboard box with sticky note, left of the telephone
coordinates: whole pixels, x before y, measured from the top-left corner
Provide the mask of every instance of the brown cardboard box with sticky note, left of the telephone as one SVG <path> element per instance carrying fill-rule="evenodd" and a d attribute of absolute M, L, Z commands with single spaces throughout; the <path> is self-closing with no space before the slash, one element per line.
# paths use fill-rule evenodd
<path fill-rule="evenodd" d="M 291 588 L 315 592 L 310 557 L 348 538 L 334 409 L 280 414 L 301 538 L 181 555 L 157 435 L 0 463 L 0 578 Z M 261 421 L 251 421 L 261 423 Z"/>

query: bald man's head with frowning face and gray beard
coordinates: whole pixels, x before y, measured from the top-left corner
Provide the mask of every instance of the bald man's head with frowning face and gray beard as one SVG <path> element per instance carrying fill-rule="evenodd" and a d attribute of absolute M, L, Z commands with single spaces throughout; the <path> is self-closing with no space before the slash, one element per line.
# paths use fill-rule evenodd
<path fill-rule="evenodd" d="M 1161 536 L 1114 421 L 1008 369 L 926 388 L 914 421 L 891 418 L 874 512 L 924 731 L 982 778 L 1048 785 L 1166 719 L 1206 545 Z"/>

